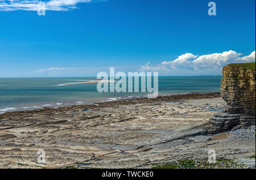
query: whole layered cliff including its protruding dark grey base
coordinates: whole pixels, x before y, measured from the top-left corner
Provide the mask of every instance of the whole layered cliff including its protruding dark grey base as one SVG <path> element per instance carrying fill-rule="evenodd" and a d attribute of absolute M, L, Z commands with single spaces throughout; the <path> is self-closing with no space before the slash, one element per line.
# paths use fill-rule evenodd
<path fill-rule="evenodd" d="M 221 96 L 226 107 L 209 120 L 208 133 L 255 125 L 255 69 L 226 65 Z"/>

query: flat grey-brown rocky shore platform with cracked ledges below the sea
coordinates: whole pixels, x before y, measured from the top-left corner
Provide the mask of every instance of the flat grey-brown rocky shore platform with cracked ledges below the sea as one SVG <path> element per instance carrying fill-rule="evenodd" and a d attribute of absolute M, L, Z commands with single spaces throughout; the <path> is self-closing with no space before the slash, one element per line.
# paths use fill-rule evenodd
<path fill-rule="evenodd" d="M 0 168 L 255 168 L 255 126 L 204 129 L 224 107 L 208 93 L 6 112 Z"/>

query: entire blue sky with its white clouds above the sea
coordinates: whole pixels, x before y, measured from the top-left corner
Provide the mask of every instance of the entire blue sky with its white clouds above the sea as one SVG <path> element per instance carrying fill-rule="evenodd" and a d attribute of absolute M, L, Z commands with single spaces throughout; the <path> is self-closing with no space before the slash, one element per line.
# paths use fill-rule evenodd
<path fill-rule="evenodd" d="M 29 2 L 29 3 L 28 3 Z M 255 61 L 255 1 L 0 0 L 0 77 L 221 74 Z"/>

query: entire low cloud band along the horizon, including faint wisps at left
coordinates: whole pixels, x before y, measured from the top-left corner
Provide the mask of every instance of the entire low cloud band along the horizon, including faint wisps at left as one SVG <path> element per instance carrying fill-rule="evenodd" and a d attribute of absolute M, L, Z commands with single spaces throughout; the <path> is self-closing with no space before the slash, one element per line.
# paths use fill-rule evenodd
<path fill-rule="evenodd" d="M 137 66 L 117 66 L 117 70 L 122 72 L 159 72 L 160 76 L 197 76 L 197 75 L 220 75 L 222 67 L 230 63 L 238 62 L 255 62 L 255 51 L 251 52 L 248 56 L 242 56 L 242 53 L 236 51 L 225 51 L 222 53 L 212 53 L 210 55 L 193 55 L 192 53 L 185 53 L 177 57 L 174 61 L 163 61 L 161 64 L 150 65 L 147 62 L 146 65 L 141 65 L 138 69 Z M 94 69 L 94 71 L 92 71 Z M 86 76 L 84 72 L 90 72 L 90 74 L 96 75 L 98 72 L 108 72 L 109 67 L 62 67 L 62 68 L 48 68 L 34 70 L 35 73 L 48 73 L 65 74 L 68 72 L 75 73 L 73 75 Z"/>

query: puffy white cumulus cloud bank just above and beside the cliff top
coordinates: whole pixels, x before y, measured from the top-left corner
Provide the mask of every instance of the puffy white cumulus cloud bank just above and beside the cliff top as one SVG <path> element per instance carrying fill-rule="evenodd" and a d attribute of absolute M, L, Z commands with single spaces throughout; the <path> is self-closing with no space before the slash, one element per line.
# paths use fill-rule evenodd
<path fill-rule="evenodd" d="M 192 53 L 185 53 L 179 56 L 174 61 L 163 61 L 161 64 L 141 65 L 141 72 L 177 72 L 182 70 L 190 70 L 193 72 L 216 72 L 221 73 L 223 66 L 230 63 L 239 62 L 255 62 L 255 51 L 251 52 L 249 56 L 240 57 L 242 53 L 236 51 L 225 51 L 222 53 L 213 53 L 210 55 L 193 55 Z"/>

